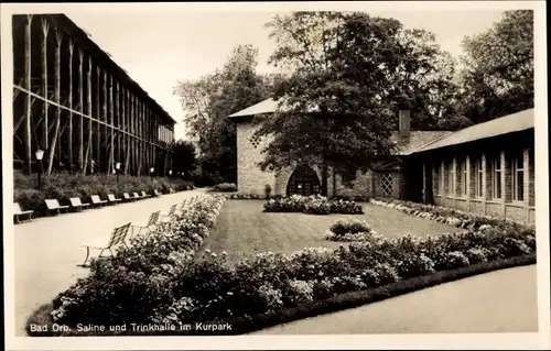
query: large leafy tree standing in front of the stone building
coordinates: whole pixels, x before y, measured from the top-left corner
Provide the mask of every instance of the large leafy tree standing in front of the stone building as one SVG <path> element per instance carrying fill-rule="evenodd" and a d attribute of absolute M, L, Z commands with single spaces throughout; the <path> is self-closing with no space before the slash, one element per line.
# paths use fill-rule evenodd
<path fill-rule="evenodd" d="M 329 166 L 344 183 L 365 173 L 376 156 L 395 150 L 397 110 L 419 106 L 420 87 L 426 96 L 437 88 L 439 81 L 429 79 L 437 46 L 428 44 L 425 32 L 404 31 L 397 20 L 294 12 L 267 26 L 278 43 L 271 62 L 292 73 L 276 88 L 278 111 L 255 133 L 255 141 L 271 139 L 259 166 L 321 165 L 323 195 Z"/>

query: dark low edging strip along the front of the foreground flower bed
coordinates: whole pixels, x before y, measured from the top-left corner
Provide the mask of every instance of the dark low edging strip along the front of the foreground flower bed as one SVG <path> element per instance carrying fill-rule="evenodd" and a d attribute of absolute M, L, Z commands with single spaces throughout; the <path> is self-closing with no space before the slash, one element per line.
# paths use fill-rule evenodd
<path fill-rule="evenodd" d="M 424 289 L 443 283 L 458 281 L 478 274 L 493 271 L 505 270 L 516 266 L 530 265 L 536 263 L 536 253 L 510 259 L 496 260 L 473 264 L 456 270 L 436 272 L 429 275 L 418 276 L 406 281 L 396 282 L 377 288 L 370 288 L 360 292 L 350 292 L 341 294 L 324 300 L 314 301 L 293 308 L 283 308 L 277 311 L 266 312 L 248 318 L 236 318 L 225 321 L 203 322 L 203 326 L 222 326 L 227 322 L 230 328 L 223 330 L 199 330 L 195 323 L 191 323 L 188 329 L 175 331 L 109 331 L 105 332 L 83 332 L 72 329 L 68 331 L 53 331 L 53 320 L 51 311 L 52 304 L 45 304 L 39 307 L 26 322 L 26 333 L 31 337 L 63 337 L 63 336 L 236 336 L 258 331 L 264 328 L 281 323 L 291 322 L 299 319 L 331 314 L 343 309 L 359 307 L 363 305 L 380 301 L 387 298 L 400 296 L 415 290 Z M 47 331 L 31 331 L 31 326 L 47 326 Z M 106 327 L 106 329 L 108 329 Z"/>

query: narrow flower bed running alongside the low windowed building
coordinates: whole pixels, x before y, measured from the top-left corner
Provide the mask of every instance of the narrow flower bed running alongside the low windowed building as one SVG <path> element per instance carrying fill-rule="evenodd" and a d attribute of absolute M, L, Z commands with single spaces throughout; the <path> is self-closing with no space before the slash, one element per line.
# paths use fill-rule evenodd
<path fill-rule="evenodd" d="M 500 228 L 505 230 L 517 230 L 529 234 L 536 234 L 536 228 L 530 224 L 519 223 L 499 217 L 479 216 L 456 209 L 417 204 L 403 200 L 371 199 L 370 204 L 396 209 L 401 212 L 446 223 L 453 227 L 468 230 L 479 230 L 486 228 Z"/>

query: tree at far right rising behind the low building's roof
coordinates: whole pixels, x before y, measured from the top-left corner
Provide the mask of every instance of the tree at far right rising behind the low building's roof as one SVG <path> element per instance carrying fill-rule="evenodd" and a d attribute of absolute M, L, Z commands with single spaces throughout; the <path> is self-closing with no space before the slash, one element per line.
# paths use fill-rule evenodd
<path fill-rule="evenodd" d="M 504 12 L 463 41 L 463 113 L 479 123 L 533 107 L 533 11 Z"/>

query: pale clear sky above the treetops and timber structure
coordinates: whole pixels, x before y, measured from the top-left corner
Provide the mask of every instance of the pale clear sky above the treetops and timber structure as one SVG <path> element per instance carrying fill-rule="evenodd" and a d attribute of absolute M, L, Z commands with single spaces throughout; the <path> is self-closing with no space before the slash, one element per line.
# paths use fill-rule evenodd
<path fill-rule="evenodd" d="M 425 3 L 426 4 L 426 3 Z M 430 2 L 429 2 L 430 4 Z M 371 15 L 395 18 L 406 28 L 424 29 L 435 34 L 441 47 L 454 57 L 462 54 L 461 42 L 498 21 L 501 10 L 454 11 L 366 11 Z M 173 89 L 179 80 L 196 79 L 222 67 L 238 44 L 259 50 L 260 73 L 272 68 L 267 61 L 276 44 L 264 23 L 283 12 L 258 11 L 65 11 L 91 35 L 129 76 L 154 98 L 179 123 L 175 138 L 185 139 L 183 111 Z"/>

